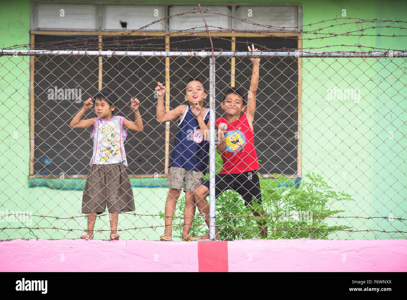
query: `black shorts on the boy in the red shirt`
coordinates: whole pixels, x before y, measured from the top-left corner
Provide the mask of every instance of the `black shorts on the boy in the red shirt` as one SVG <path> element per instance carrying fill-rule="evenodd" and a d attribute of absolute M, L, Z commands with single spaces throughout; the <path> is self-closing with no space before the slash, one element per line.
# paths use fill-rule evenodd
<path fill-rule="evenodd" d="M 202 183 L 209 188 L 209 179 Z M 215 198 L 225 190 L 234 190 L 241 194 L 245 206 L 253 201 L 253 197 L 261 204 L 260 181 L 256 171 L 248 171 L 238 174 L 216 174 L 215 175 Z"/>

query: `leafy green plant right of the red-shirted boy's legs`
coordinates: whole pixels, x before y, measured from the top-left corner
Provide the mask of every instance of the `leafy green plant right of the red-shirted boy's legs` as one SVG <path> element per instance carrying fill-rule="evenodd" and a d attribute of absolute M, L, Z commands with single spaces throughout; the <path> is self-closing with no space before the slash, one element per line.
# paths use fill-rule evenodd
<path fill-rule="evenodd" d="M 345 210 L 331 210 L 329 206 L 337 201 L 354 201 L 349 194 L 335 192 L 319 174 L 306 174 L 309 181 L 302 180 L 300 187 L 285 187 L 282 183 L 291 182 L 287 176 L 274 174 L 276 180 L 260 180 L 263 205 L 269 229 L 268 238 L 319 238 L 353 227 L 328 225 L 330 217 Z M 263 207 L 262 207 L 263 206 Z M 254 218 L 256 219 L 256 218 Z"/>

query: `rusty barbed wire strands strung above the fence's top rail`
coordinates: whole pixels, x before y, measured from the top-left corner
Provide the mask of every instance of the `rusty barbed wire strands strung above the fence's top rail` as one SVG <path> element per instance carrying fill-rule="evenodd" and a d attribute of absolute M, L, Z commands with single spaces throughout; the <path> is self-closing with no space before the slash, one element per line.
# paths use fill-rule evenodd
<path fill-rule="evenodd" d="M 156 41 L 157 39 L 162 39 L 162 38 L 166 38 L 166 37 L 173 37 L 173 36 L 179 36 L 179 34 L 184 33 L 184 35 L 190 35 L 191 31 L 194 33 L 194 35 L 198 34 L 198 33 L 207 33 L 206 27 L 205 26 L 195 26 L 192 27 L 190 29 L 183 29 L 183 30 L 179 30 L 179 31 L 174 31 L 171 33 L 165 33 L 163 35 L 156 35 L 156 36 L 152 36 L 152 37 L 146 37 L 143 36 L 142 38 L 139 39 L 134 39 L 131 42 L 128 42 L 127 44 L 125 44 L 123 41 L 119 41 L 118 38 L 119 37 L 125 37 L 125 36 L 131 36 L 131 34 L 133 33 L 138 33 L 141 31 L 144 31 L 144 29 L 147 29 L 149 26 L 157 24 L 157 23 L 162 23 L 164 21 L 167 21 L 169 19 L 172 18 L 176 18 L 182 15 L 186 15 L 186 14 L 195 14 L 195 13 L 200 13 L 201 11 L 199 10 L 199 8 L 193 8 L 190 9 L 189 11 L 183 12 L 183 13 L 177 13 L 174 15 L 170 15 L 167 17 L 163 17 L 160 18 L 159 20 L 155 20 L 145 26 L 140 27 L 139 29 L 136 30 L 131 30 L 128 32 L 124 32 L 124 33 L 120 33 L 117 35 L 108 35 L 108 36 L 103 36 L 102 38 L 113 38 L 114 40 L 111 42 L 107 42 L 107 41 L 103 41 L 102 43 L 99 42 L 98 37 L 86 37 L 86 38 L 74 38 L 74 39 L 68 39 L 65 41 L 61 41 L 61 42 L 44 42 L 44 43 L 37 43 L 35 44 L 35 49 L 47 49 L 47 50 L 57 50 L 57 49 L 61 49 L 62 48 L 66 48 L 66 45 L 69 44 L 71 49 L 76 49 L 76 50 L 89 50 L 89 49 L 98 49 L 100 46 L 102 47 L 127 47 L 127 49 L 131 49 L 133 47 L 137 47 L 139 45 L 135 44 L 136 42 L 141 42 L 141 41 Z M 389 38 L 397 38 L 397 37 L 405 37 L 407 35 L 403 35 L 403 34 L 395 34 L 393 33 L 392 35 L 385 35 L 385 34 L 381 34 L 381 33 L 377 33 L 377 34 L 368 34 L 368 33 L 364 33 L 368 30 L 376 30 L 376 29 L 380 29 L 380 28 L 387 28 L 387 29 L 398 29 L 399 31 L 401 30 L 405 30 L 407 29 L 406 27 L 401 27 L 401 26 L 392 26 L 392 25 L 383 25 L 383 26 L 370 26 L 367 28 L 361 28 L 361 29 L 356 29 L 356 30 L 348 30 L 344 33 L 337 33 L 337 32 L 322 32 L 325 29 L 337 29 L 337 27 L 342 27 L 345 25 L 363 25 L 363 24 L 369 24 L 369 23 L 387 23 L 387 24 L 400 24 L 400 23 L 406 23 L 406 21 L 402 21 L 402 20 L 387 20 L 387 19 L 371 19 L 371 20 L 366 20 L 366 19 L 361 19 L 361 18 L 332 18 L 329 20 L 322 20 L 319 22 L 315 22 L 315 23 L 310 23 L 310 24 L 306 24 L 303 26 L 296 26 L 296 27 L 289 27 L 289 26 L 270 26 L 270 25 L 265 25 L 265 24 L 260 24 L 257 22 L 253 22 L 251 20 L 247 20 L 244 18 L 239 18 L 233 15 L 228 15 L 225 13 L 219 13 L 219 12 L 214 12 L 211 11 L 210 9 L 202 9 L 202 15 L 204 13 L 210 13 L 210 14 L 214 14 L 214 15 L 219 15 L 219 16 L 223 16 L 223 17 L 227 17 L 230 18 L 232 20 L 239 20 L 243 23 L 246 24 L 250 24 L 252 26 L 258 26 L 259 28 L 264 28 L 267 29 L 267 31 L 264 30 L 238 30 L 238 29 L 229 29 L 229 28 L 223 28 L 220 26 L 211 26 L 212 28 L 217 29 L 216 33 L 254 33 L 254 34 L 261 34 L 262 36 L 271 36 L 274 37 L 276 36 L 276 33 L 295 33 L 301 34 L 301 37 L 299 36 L 295 36 L 295 37 L 291 37 L 291 36 L 285 36 L 284 39 L 292 39 L 292 40 L 307 40 L 307 41 L 312 41 L 312 40 L 323 40 L 326 38 L 335 38 L 338 36 L 355 36 L 355 37 L 363 37 L 363 36 L 375 36 L 375 37 L 389 37 Z M 350 22 L 341 22 L 339 23 L 338 21 L 342 21 L 342 20 L 349 20 Z M 354 20 L 354 21 L 352 21 Z M 319 25 L 319 24 L 324 24 L 326 22 L 331 22 L 331 21 L 335 21 L 337 22 L 337 24 L 330 24 L 327 26 L 320 26 L 316 29 L 310 29 L 310 30 L 305 30 L 307 27 L 311 27 L 315 25 Z M 287 30 L 287 28 L 291 28 L 292 30 Z M 352 33 L 357 33 L 357 34 L 352 34 Z M 315 37 L 311 38 L 311 37 L 305 37 L 305 35 L 315 35 Z M 326 36 L 324 36 L 326 35 Z M 181 35 L 182 36 L 182 35 Z M 201 40 L 205 37 L 196 37 L 195 40 Z M 223 37 L 216 37 L 219 40 L 223 40 L 225 38 Z M 57 44 L 61 43 L 61 46 L 58 46 Z M 236 43 L 240 43 L 239 41 L 236 41 Z M 83 44 L 85 44 L 85 46 L 83 46 Z M 77 46 L 77 45 L 81 45 L 81 46 Z M 260 44 L 255 44 L 255 46 L 262 46 Z M 334 45 L 326 45 L 326 46 L 322 46 L 322 47 L 310 47 L 307 48 L 305 46 L 303 46 L 304 51 L 306 51 L 306 49 L 323 49 L 323 48 L 327 48 L 327 47 L 333 47 Z M 357 47 L 357 48 L 362 48 L 365 46 L 362 46 L 361 44 L 354 44 L 354 45 L 344 45 L 344 44 L 340 44 L 340 45 L 335 45 L 335 46 L 348 46 L 348 47 Z M 147 45 L 142 45 L 141 46 L 142 49 L 158 49 L 158 48 L 164 48 L 165 47 L 165 43 L 158 43 L 158 44 L 147 44 Z M 21 45 L 14 45 L 11 46 L 9 48 L 4 48 L 4 49 L 30 49 L 30 45 L 29 44 L 21 44 Z M 196 50 L 202 50 L 204 48 L 198 48 L 195 49 Z M 214 47 L 214 49 L 220 51 L 221 49 L 218 49 L 216 47 Z M 271 49 L 271 48 L 265 48 L 266 51 L 280 51 L 284 48 L 281 49 Z M 376 48 L 376 47 L 369 47 L 369 49 L 376 49 L 376 50 L 389 50 L 389 49 L 383 49 L 383 48 Z M 171 50 L 171 48 L 170 48 Z M 177 49 L 178 50 L 178 49 Z M 177 51 L 174 50 L 174 51 Z M 191 49 L 179 49 L 181 51 L 186 51 L 186 50 L 191 50 Z M 394 51 L 405 51 L 405 49 L 393 49 Z"/>

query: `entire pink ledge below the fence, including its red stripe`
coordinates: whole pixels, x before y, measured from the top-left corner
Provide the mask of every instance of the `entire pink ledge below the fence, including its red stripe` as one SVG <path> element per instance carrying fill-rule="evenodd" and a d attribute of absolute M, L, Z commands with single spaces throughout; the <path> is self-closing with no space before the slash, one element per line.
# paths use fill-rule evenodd
<path fill-rule="evenodd" d="M 213 260 L 212 245 L 214 251 L 223 252 Z M 228 271 L 407 271 L 407 240 L 0 242 L 3 272 L 209 271 L 219 260 L 226 266 L 222 270 Z"/>

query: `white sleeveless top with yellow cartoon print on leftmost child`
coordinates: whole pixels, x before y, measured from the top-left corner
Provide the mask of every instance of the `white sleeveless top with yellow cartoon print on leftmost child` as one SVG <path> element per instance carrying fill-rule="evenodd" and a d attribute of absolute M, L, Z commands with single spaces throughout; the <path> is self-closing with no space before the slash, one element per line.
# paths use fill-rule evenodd
<path fill-rule="evenodd" d="M 120 163 L 127 165 L 124 142 L 127 130 L 123 128 L 125 117 L 114 116 L 110 120 L 95 118 L 94 128 L 90 132 L 93 138 L 93 155 L 90 165 Z"/>

